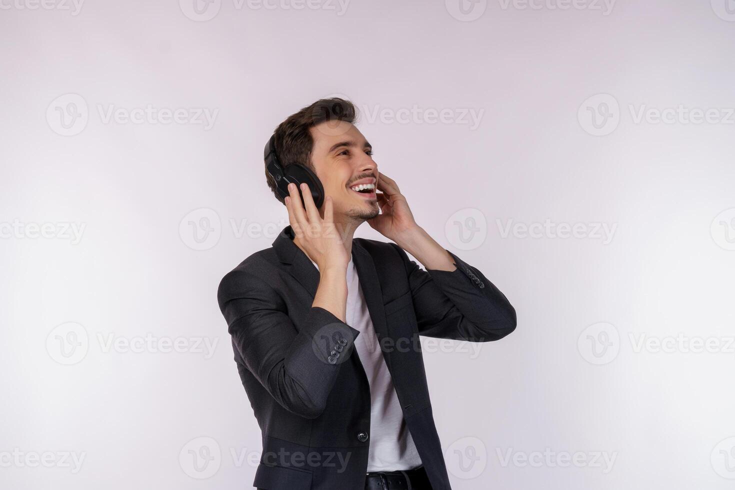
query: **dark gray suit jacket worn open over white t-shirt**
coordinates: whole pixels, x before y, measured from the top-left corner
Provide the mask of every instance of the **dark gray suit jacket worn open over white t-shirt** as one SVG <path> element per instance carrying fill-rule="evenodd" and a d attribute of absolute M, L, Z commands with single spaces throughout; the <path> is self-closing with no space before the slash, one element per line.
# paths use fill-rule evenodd
<path fill-rule="evenodd" d="M 450 252 L 451 253 L 451 252 Z M 398 400 L 434 490 L 450 489 L 418 336 L 488 342 L 514 331 L 515 310 L 485 276 L 422 270 L 391 242 L 355 238 L 352 258 Z M 362 490 L 370 385 L 359 331 L 312 307 L 319 271 L 284 228 L 273 247 L 224 276 L 218 302 L 234 361 L 262 430 L 254 486 Z"/>

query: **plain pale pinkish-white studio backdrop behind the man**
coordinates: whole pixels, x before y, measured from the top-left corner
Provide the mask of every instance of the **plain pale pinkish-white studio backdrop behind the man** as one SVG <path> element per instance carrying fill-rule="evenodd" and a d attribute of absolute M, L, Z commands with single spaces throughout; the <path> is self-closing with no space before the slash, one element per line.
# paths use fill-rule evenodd
<path fill-rule="evenodd" d="M 340 93 L 417 222 L 517 310 L 425 353 L 453 488 L 731 488 L 732 1 L 193 1 L 0 0 L 1 487 L 250 488 L 216 290 L 287 224 L 271 131 Z M 187 112 L 106 118 L 148 106 Z"/>

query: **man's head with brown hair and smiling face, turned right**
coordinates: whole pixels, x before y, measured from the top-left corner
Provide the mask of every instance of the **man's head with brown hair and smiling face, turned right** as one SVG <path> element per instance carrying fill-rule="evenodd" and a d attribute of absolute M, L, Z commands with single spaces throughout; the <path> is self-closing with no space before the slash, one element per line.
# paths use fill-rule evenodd
<path fill-rule="evenodd" d="M 325 197 L 331 195 L 335 221 L 362 222 L 379 214 L 375 193 L 378 166 L 370 143 L 354 126 L 356 118 L 351 102 L 326 98 L 290 115 L 275 131 L 276 154 L 282 165 L 298 163 L 317 175 Z M 270 190 L 283 202 L 268 170 L 265 177 Z M 351 189 L 357 184 L 374 187 L 370 193 L 360 193 Z"/>

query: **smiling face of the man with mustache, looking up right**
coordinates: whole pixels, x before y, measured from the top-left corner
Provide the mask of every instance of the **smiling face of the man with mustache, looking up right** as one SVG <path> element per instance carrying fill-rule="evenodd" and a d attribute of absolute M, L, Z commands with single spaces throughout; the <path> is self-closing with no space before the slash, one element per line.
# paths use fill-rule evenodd
<path fill-rule="evenodd" d="M 362 223 L 379 215 L 378 165 L 373 161 L 373 148 L 368 140 L 345 121 L 321 123 L 309 131 L 314 140 L 312 163 L 324 195 L 331 195 L 334 220 Z M 368 189 L 357 192 L 353 187 L 359 184 L 367 185 Z"/>

